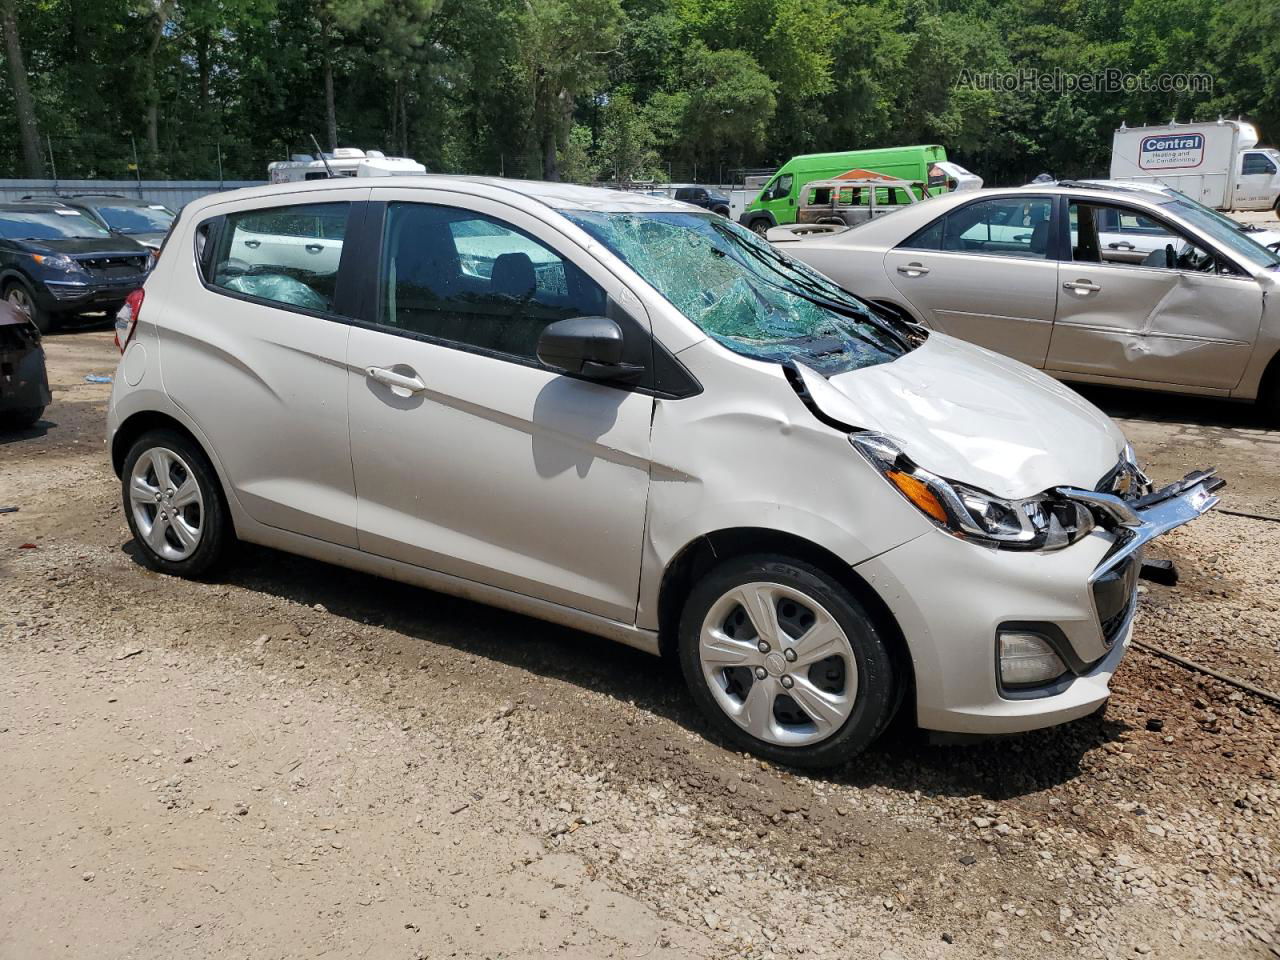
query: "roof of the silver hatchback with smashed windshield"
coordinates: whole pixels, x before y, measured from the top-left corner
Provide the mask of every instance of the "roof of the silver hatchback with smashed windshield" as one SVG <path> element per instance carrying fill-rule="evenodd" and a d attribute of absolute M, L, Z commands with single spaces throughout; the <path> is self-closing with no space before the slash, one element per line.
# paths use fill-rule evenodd
<path fill-rule="evenodd" d="M 230 200 L 253 200 L 287 197 L 294 193 L 323 193 L 328 189 L 351 187 L 383 187 L 394 189 L 436 189 L 454 193 L 467 193 L 477 197 L 499 197 L 518 205 L 526 204 L 550 207 L 561 212 L 595 210 L 602 212 L 671 212 L 687 214 L 687 204 L 667 197 L 654 197 L 648 193 L 604 189 L 600 187 L 579 187 L 573 183 L 552 183 L 548 180 L 517 180 L 506 177 L 454 177 L 449 174 L 422 174 L 412 177 L 352 178 L 334 177 L 326 180 L 301 180 L 296 183 L 271 183 L 262 187 L 210 193 L 192 201 L 193 211 L 215 206 Z"/>

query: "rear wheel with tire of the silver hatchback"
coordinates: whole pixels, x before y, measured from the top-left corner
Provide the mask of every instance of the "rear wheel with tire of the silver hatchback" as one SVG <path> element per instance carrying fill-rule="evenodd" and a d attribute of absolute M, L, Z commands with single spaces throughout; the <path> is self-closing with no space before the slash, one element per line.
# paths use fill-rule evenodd
<path fill-rule="evenodd" d="M 180 577 L 201 577 L 232 539 L 227 504 L 205 452 L 175 430 L 151 430 L 124 457 L 124 515 L 142 562 Z"/>

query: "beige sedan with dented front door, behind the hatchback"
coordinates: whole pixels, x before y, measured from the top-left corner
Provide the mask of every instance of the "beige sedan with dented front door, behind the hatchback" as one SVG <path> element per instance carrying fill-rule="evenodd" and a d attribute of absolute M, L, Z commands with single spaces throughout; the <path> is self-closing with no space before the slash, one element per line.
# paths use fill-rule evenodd
<path fill-rule="evenodd" d="M 1179 193 L 951 193 L 769 239 L 904 319 L 1060 380 L 1257 401 L 1280 417 L 1280 253 Z"/>

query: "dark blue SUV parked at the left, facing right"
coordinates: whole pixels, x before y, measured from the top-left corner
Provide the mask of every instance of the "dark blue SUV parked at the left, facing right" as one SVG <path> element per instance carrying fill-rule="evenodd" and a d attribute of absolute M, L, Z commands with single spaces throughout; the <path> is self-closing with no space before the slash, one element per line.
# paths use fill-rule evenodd
<path fill-rule="evenodd" d="M 151 252 L 72 207 L 0 204 L 0 296 L 41 333 L 76 314 L 114 314 L 142 285 Z"/>

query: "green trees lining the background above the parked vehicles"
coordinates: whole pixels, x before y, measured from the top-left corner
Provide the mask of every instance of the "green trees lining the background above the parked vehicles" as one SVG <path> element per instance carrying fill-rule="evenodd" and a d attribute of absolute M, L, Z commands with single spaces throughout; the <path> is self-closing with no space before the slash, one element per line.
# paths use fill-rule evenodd
<path fill-rule="evenodd" d="M 1121 123 L 1243 115 L 1280 138 L 1260 0 L 3 0 L 46 173 L 260 179 L 328 136 L 433 170 L 703 179 L 942 143 L 992 183 L 1105 173 Z M 3 55 L 3 47 L 0 47 Z M 1212 90 L 992 90 L 1019 70 Z M 0 170 L 23 170 L 0 69 Z M 50 156 L 51 161 L 50 163 Z M 716 173 L 712 173 L 712 172 Z"/>

